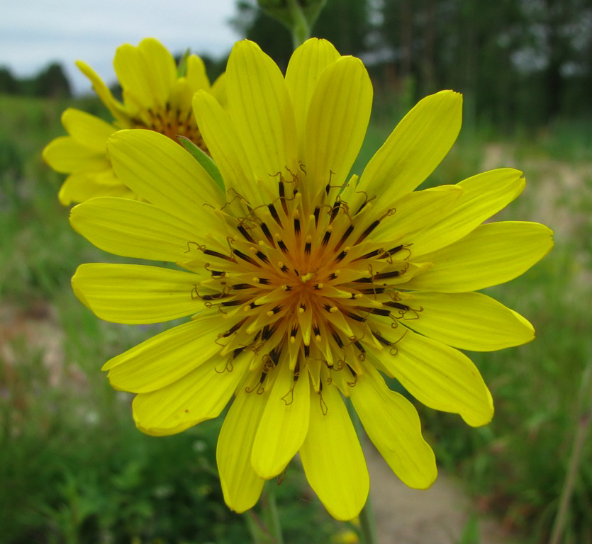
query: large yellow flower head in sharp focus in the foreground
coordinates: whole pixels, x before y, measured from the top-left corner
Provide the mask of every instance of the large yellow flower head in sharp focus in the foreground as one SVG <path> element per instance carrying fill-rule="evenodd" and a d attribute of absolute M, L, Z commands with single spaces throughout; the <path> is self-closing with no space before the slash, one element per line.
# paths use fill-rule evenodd
<path fill-rule="evenodd" d="M 348 181 L 372 104 L 361 61 L 308 40 L 284 79 L 242 41 L 227 92 L 228 111 L 206 92 L 194 98 L 223 189 L 172 140 L 122 131 L 108 142 L 113 167 L 150 203 L 95 198 L 72 210 L 96 246 L 185 270 L 85 264 L 74 291 L 113 322 L 193 316 L 104 369 L 113 387 L 137 394 L 135 422 L 153 435 L 216 417 L 234 397 L 217 453 L 231 508 L 253 506 L 299 452 L 330 514 L 352 519 L 369 477 L 343 397 L 398 477 L 430 486 L 436 465 L 418 414 L 384 375 L 428 407 L 488 423 L 491 395 L 455 348 L 515 346 L 534 330 L 474 291 L 530 268 L 552 233 L 481 225 L 523 191 L 520 171 L 413 191 L 457 137 L 459 94 L 418 103 Z"/>

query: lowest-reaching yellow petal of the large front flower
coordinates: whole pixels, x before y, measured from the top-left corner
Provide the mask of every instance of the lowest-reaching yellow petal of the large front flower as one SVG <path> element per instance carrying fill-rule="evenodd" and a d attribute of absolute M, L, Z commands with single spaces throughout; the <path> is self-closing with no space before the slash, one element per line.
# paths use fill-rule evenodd
<path fill-rule="evenodd" d="M 335 519 L 354 519 L 370 487 L 356 431 L 335 385 L 311 390 L 311 421 L 300 449 L 306 479 Z"/>

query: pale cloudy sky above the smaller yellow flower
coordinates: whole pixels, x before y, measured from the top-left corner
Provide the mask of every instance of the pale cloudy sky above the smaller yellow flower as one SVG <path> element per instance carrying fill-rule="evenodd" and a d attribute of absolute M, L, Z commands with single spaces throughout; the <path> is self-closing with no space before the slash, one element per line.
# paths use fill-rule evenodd
<path fill-rule="evenodd" d="M 79 94 L 91 86 L 74 61 L 111 84 L 122 43 L 152 37 L 173 53 L 222 57 L 240 39 L 228 24 L 234 14 L 235 0 L 0 0 L 0 66 L 29 77 L 60 62 Z"/>

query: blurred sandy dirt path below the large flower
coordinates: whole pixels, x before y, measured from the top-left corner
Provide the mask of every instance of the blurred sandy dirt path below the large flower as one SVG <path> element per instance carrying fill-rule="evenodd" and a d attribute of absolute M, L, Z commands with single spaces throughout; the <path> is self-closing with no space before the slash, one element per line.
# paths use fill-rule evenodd
<path fill-rule="evenodd" d="M 410 489 L 371 444 L 364 448 L 379 544 L 457 544 L 471 516 L 460 482 L 440 472 L 427 491 Z M 511 544 L 496 521 L 479 518 L 479 544 Z"/>

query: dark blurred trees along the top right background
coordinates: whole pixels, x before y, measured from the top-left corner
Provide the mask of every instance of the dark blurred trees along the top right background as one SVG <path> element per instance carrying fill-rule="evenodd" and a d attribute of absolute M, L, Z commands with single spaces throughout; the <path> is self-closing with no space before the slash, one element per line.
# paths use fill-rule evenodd
<path fill-rule="evenodd" d="M 281 66 L 289 33 L 239 0 L 233 25 Z M 328 0 L 313 28 L 417 100 L 439 89 L 498 126 L 592 113 L 592 0 Z"/>

